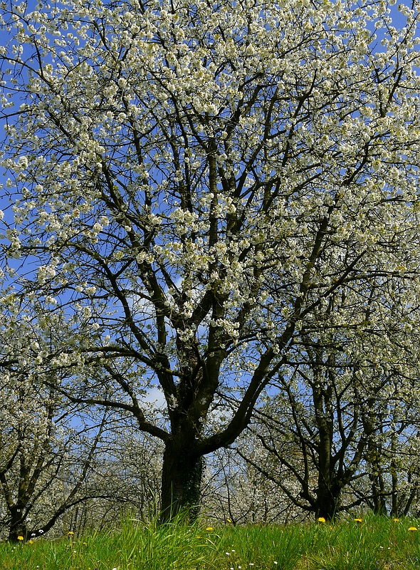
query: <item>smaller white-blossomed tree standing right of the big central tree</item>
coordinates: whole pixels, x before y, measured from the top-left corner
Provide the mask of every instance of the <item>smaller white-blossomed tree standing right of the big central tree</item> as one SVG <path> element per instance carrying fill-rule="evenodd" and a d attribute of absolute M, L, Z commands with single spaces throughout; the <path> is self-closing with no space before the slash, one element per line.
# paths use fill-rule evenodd
<path fill-rule="evenodd" d="M 391 497 L 397 516 L 414 501 L 419 302 L 398 284 L 379 276 L 355 290 L 350 281 L 313 311 L 249 426 L 266 457 L 238 446 L 315 517 L 332 519 L 359 504 L 384 513 Z"/>

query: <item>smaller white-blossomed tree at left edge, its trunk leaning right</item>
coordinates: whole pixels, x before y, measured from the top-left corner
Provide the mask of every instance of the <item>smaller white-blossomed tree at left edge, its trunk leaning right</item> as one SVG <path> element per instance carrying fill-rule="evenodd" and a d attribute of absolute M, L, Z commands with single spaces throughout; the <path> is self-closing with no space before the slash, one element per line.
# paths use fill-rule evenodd
<path fill-rule="evenodd" d="M 110 412 L 69 405 L 54 389 L 59 379 L 39 357 L 55 346 L 48 316 L 42 327 L 28 311 L 0 320 L 1 360 L 7 363 L 0 384 L 0 536 L 18 541 L 46 534 L 75 505 L 103 497 L 90 475 Z"/>

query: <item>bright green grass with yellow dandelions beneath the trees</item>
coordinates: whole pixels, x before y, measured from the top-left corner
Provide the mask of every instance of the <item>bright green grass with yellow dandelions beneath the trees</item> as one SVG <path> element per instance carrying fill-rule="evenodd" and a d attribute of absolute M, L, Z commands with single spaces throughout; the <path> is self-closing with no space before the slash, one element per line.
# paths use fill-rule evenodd
<path fill-rule="evenodd" d="M 0 570 L 36 569 L 413 570 L 420 569 L 420 521 L 214 529 L 127 522 L 120 532 L 0 544 Z"/>

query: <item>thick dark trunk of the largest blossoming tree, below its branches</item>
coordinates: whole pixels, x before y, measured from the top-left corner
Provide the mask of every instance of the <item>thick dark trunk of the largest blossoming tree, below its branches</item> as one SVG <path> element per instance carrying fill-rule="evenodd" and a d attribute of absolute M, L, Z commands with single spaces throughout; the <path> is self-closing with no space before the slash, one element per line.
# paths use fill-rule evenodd
<path fill-rule="evenodd" d="M 185 512 L 189 521 L 199 515 L 204 457 L 194 455 L 182 442 L 169 440 L 164 450 L 160 521 Z"/>

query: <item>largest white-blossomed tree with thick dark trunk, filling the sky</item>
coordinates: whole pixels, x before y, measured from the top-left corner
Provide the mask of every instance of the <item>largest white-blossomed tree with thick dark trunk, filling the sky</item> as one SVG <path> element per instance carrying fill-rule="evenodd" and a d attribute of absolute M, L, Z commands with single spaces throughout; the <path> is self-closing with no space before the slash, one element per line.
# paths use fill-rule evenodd
<path fill-rule="evenodd" d="M 61 393 L 162 440 L 163 518 L 313 311 L 375 277 L 416 297 L 419 16 L 399 9 L 401 31 L 383 0 L 2 4 L 10 310 L 59 312 L 71 346 L 39 358 L 98 366 Z"/>

